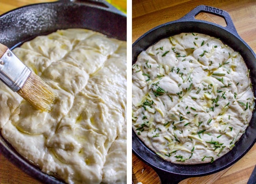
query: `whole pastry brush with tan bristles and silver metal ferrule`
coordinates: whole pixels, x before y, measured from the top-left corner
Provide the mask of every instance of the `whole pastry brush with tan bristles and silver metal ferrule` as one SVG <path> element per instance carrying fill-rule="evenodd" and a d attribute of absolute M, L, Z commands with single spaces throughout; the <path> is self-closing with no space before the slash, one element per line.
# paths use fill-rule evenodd
<path fill-rule="evenodd" d="M 55 95 L 50 86 L 0 44 L 0 79 L 14 92 L 42 111 L 50 111 Z"/>

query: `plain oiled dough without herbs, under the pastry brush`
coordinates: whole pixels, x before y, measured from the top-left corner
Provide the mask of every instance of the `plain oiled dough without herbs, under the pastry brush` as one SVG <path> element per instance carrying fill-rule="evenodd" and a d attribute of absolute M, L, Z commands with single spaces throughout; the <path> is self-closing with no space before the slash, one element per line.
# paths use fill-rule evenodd
<path fill-rule="evenodd" d="M 126 183 L 126 42 L 86 29 L 14 53 L 58 95 L 50 113 L 2 82 L 0 128 L 17 151 L 68 183 Z"/>

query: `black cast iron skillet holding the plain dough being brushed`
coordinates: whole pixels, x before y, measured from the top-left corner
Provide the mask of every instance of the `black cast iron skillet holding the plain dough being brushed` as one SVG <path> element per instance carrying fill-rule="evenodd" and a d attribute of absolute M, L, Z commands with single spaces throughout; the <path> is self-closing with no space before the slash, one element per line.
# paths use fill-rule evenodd
<path fill-rule="evenodd" d="M 0 16 L 0 43 L 13 49 L 38 35 L 67 28 L 85 28 L 126 40 L 126 15 L 104 0 L 59 0 L 21 7 Z M 44 183 L 63 183 L 41 172 L 8 144 L 0 133 L 0 152 Z"/>

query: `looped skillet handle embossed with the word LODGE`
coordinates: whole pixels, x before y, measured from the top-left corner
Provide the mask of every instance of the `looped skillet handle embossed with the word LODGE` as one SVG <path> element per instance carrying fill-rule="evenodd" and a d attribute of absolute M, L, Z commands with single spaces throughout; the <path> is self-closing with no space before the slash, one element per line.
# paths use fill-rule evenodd
<path fill-rule="evenodd" d="M 233 33 L 234 35 L 239 36 L 237 31 L 236 31 L 236 27 L 235 27 L 229 13 L 222 10 L 222 9 L 216 8 L 216 7 L 211 7 L 211 6 L 206 6 L 206 5 L 199 5 L 199 6 L 195 7 L 193 10 L 191 10 L 189 13 L 187 13 L 185 16 L 180 18 L 179 20 L 181 20 L 181 21 L 194 21 L 194 22 L 207 22 L 205 20 L 197 20 L 195 18 L 195 16 L 198 15 L 199 13 L 201 13 L 201 12 L 211 13 L 213 15 L 217 15 L 217 16 L 220 16 L 220 17 L 224 18 L 224 20 L 226 21 L 227 26 L 226 27 L 222 26 L 223 29 Z M 215 23 L 212 23 L 212 22 L 210 22 L 210 23 L 215 24 Z M 215 24 L 215 25 L 217 25 L 217 24 Z"/>

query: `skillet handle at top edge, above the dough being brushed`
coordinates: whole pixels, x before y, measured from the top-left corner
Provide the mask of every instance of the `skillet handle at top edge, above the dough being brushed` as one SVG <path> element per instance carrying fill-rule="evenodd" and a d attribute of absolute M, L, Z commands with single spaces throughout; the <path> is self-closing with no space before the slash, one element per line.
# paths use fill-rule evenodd
<path fill-rule="evenodd" d="M 125 13 L 114 7 L 112 4 L 108 3 L 106 0 L 59 0 L 59 2 L 73 2 L 76 4 L 93 5 L 103 9 L 107 9 L 108 11 L 111 11 L 113 13 L 126 16 Z"/>

